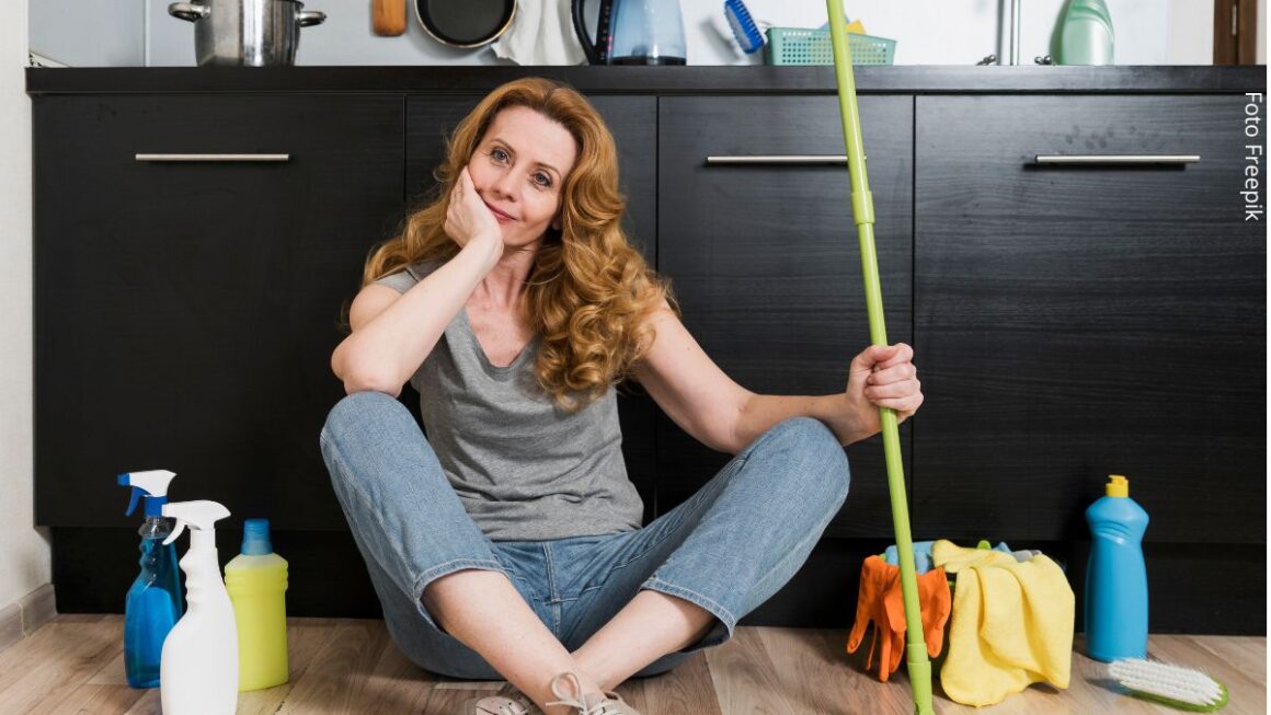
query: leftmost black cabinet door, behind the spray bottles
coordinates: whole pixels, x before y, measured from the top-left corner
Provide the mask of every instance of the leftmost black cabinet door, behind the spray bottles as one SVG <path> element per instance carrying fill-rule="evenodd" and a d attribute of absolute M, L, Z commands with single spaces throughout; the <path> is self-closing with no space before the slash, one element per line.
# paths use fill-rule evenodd
<path fill-rule="evenodd" d="M 33 112 L 37 523 L 126 523 L 114 475 L 170 469 L 174 500 L 222 502 L 234 522 L 343 528 L 318 433 L 344 394 L 341 306 L 400 211 L 402 99 L 41 97 Z"/>

